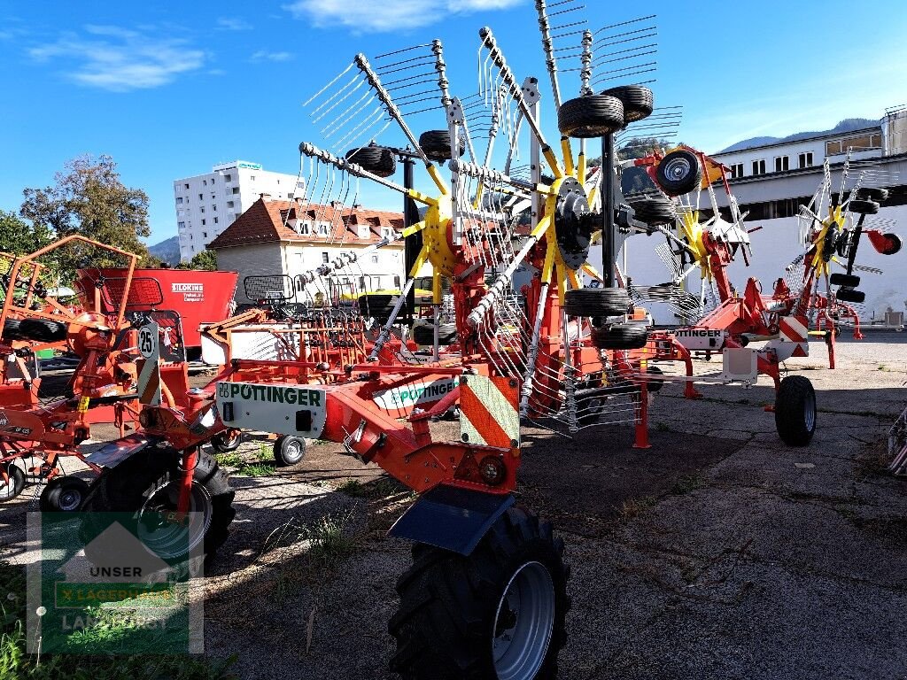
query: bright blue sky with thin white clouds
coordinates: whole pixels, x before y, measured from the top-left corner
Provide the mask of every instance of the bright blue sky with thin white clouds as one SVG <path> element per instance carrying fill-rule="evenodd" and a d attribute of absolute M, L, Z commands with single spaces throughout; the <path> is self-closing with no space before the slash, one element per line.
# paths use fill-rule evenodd
<path fill-rule="evenodd" d="M 22 189 L 51 183 L 65 160 L 107 153 L 151 197 L 151 242 L 171 237 L 171 180 L 235 159 L 296 172 L 298 142 L 317 141 L 301 102 L 356 52 L 440 37 L 454 93 L 474 92 L 488 24 L 520 80 L 544 78 L 533 5 L 0 2 L 0 209 L 18 209 Z M 658 15 L 657 103 L 684 105 L 680 138 L 704 151 L 907 103 L 901 2 L 587 5 L 592 28 Z M 564 83 L 577 87 L 573 74 Z"/>

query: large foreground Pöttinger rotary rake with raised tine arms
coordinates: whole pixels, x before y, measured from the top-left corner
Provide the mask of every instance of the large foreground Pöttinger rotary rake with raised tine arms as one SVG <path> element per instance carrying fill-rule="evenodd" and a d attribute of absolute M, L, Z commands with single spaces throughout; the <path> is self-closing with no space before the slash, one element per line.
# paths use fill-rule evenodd
<path fill-rule="evenodd" d="M 594 93 L 594 34 L 580 29 L 580 96 L 561 101 L 551 35 L 559 27 L 544 2 L 536 7 L 559 143 L 543 129 L 538 80 L 517 80 L 490 28 L 479 33 L 479 92 L 462 100 L 451 92 L 440 41 L 374 60 L 356 55 L 307 102 L 330 145 L 299 146 L 307 199 L 336 197 L 333 214 L 342 219 L 367 180 L 424 208 L 407 210 L 418 219 L 372 247 L 399 238 L 414 244 L 400 295 L 377 325 L 375 315 L 342 303 L 295 310 L 279 325 L 254 309 L 210 325 L 205 334 L 220 348 L 223 370 L 189 390 L 184 403 L 161 388 L 161 333 L 146 319 L 137 340 L 141 432 L 89 459 L 103 471 L 85 510 L 138 512 L 159 553 L 185 549 L 177 538 L 195 513 L 201 530 L 190 535 L 190 548 L 208 556 L 227 538 L 234 510 L 229 481 L 203 445 L 225 450 L 238 432 L 263 431 L 279 435 L 278 460 L 299 460 L 306 439 L 320 438 L 379 465 L 420 495 L 391 529 L 414 541 L 389 624 L 392 669 L 407 678 L 556 675 L 570 569 L 551 524 L 514 505 L 521 425 L 570 436 L 624 424 L 637 446 L 648 446 L 649 398 L 666 379 L 652 360 L 677 347 L 635 320 L 615 267 L 615 235 L 635 222 L 618 200 L 612 136 L 652 113 L 652 93 L 641 85 Z M 619 43 L 608 30 L 601 34 L 606 44 Z M 424 92 L 429 84 L 437 92 Z M 440 101 L 440 111 L 426 101 Z M 428 111 L 443 114 L 446 129 L 417 137 L 411 121 Z M 368 143 L 388 128 L 422 163 L 430 190 L 393 179 L 399 143 Z M 579 140 L 576 156 L 571 138 Z M 605 171 L 590 172 L 586 141 L 602 138 L 611 150 Z M 288 225 L 297 220 L 293 210 Z M 596 232 L 600 271 L 589 263 Z M 354 275 L 368 252 L 336 257 L 286 287 L 329 290 L 332 279 Z M 444 317 L 437 312 L 447 289 L 456 337 L 441 346 L 434 333 L 432 351 L 416 353 L 395 327 L 425 263 L 433 270 L 433 323 Z M 530 274 L 519 289 L 518 268 Z M 583 287 L 585 277 L 600 285 Z M 282 355 L 254 358 L 257 345 L 274 343 Z M 754 356 L 773 361 L 768 350 Z M 727 368 L 728 379 L 735 370 Z M 747 363 L 743 374 L 750 373 Z M 459 437 L 438 441 L 431 422 L 454 403 Z M 814 413 L 790 405 L 780 401 L 777 410 L 811 435 Z"/>

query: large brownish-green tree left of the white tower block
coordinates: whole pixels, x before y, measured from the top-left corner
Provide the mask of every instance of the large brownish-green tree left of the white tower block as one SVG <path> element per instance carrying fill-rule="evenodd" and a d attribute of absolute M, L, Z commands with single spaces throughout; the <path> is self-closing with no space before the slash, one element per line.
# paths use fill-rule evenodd
<path fill-rule="evenodd" d="M 56 238 L 78 234 L 108 246 L 121 248 L 149 260 L 141 241 L 151 233 L 148 226 L 148 195 L 131 189 L 120 180 L 110 156 L 80 156 L 67 161 L 54 175 L 54 185 L 24 189 L 20 214 L 36 231 Z M 123 257 L 96 248 L 66 248 L 55 254 L 54 268 L 61 278 L 73 277 L 78 267 L 122 267 Z"/>

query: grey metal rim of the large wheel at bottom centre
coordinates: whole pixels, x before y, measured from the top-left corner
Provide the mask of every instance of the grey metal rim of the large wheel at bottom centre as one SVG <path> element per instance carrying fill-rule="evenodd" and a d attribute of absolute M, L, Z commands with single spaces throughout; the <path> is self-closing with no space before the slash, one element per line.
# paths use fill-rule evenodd
<path fill-rule="evenodd" d="M 527 562 L 513 574 L 494 615 L 492 656 L 498 680 L 535 677 L 551 643 L 554 583 L 541 562 Z"/>

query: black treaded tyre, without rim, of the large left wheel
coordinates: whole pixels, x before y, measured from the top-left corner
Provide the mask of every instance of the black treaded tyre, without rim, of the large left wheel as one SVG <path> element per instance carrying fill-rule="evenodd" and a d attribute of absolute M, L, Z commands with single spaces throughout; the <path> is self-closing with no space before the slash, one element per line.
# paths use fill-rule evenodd
<path fill-rule="evenodd" d="M 153 500 L 152 491 L 159 491 L 161 487 L 172 490 L 171 485 L 179 484 L 181 476 L 180 455 L 175 450 L 152 447 L 138 452 L 115 468 L 102 471 L 83 503 L 83 522 L 91 525 L 94 512 L 143 514 L 145 504 Z M 204 504 L 204 510 L 210 510 L 202 546 L 205 561 L 210 561 L 227 540 L 230 522 L 236 516 L 233 509 L 235 491 L 229 485 L 227 473 L 220 470 L 218 461 L 210 453 L 199 452 L 192 474 L 192 491 L 193 509 L 202 508 Z M 159 493 L 167 495 L 164 491 Z M 158 493 L 154 496 L 158 497 Z M 155 505 L 159 507 L 158 503 Z M 175 507 L 167 510 L 175 510 Z M 96 534 L 97 530 L 92 531 L 89 527 L 88 530 L 83 529 L 81 538 L 87 542 Z M 155 550 L 162 559 L 180 560 L 186 557 L 185 550 L 162 551 L 155 549 L 150 541 L 146 541 L 146 546 Z"/>

